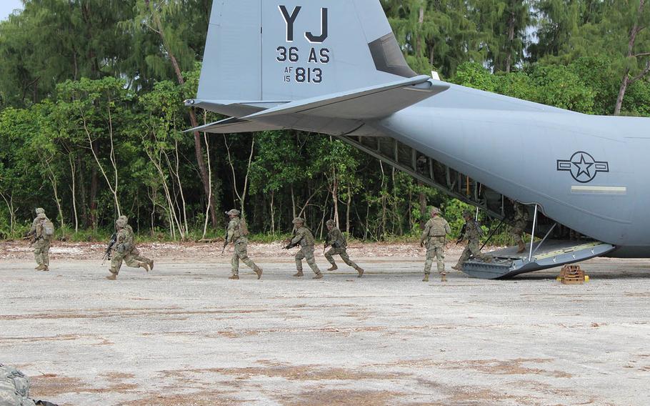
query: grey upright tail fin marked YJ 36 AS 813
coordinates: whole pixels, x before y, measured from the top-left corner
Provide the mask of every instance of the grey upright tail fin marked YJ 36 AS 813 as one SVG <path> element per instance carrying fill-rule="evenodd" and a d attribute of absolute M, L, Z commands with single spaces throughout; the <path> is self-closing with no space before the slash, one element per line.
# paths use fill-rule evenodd
<path fill-rule="evenodd" d="M 315 3 L 213 1 L 197 99 L 282 104 L 417 76 L 379 0 Z"/>

